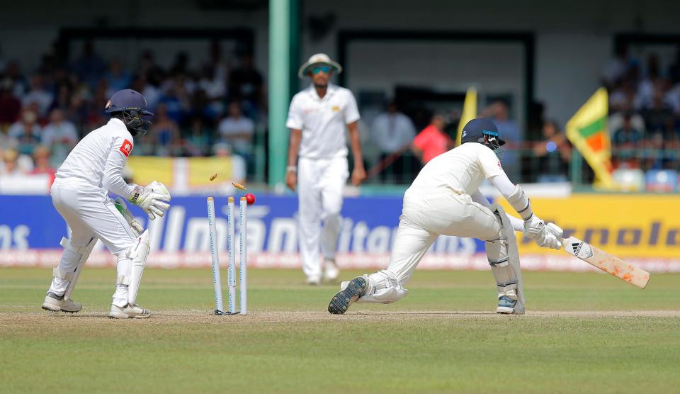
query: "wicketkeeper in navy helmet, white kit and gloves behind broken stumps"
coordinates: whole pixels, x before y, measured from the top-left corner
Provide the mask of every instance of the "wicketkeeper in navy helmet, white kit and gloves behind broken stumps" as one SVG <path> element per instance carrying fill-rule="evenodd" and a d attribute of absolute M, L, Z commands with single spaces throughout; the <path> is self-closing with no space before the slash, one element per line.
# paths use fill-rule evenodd
<path fill-rule="evenodd" d="M 170 201 L 167 188 L 158 182 L 147 187 L 126 184 L 123 168 L 132 152 L 132 137 L 143 135 L 153 116 L 140 93 L 117 91 L 106 103 L 111 120 L 86 135 L 57 170 L 50 195 L 57 211 L 70 228 L 62 238 L 64 252 L 47 291 L 42 309 L 78 312 L 81 304 L 71 300 L 87 257 L 101 240 L 118 257 L 117 280 L 109 317 L 149 317 L 149 310 L 136 303 L 142 271 L 149 253 L 149 232 L 143 231 L 128 213 L 123 199 L 140 206 L 150 220 L 163 216 Z"/>

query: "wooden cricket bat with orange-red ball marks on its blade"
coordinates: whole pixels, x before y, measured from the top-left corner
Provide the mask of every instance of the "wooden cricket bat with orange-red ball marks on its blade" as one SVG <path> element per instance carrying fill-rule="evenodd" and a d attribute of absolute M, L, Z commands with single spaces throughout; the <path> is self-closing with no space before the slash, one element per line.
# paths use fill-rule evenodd
<path fill-rule="evenodd" d="M 548 223 L 547 226 L 550 227 L 554 225 L 553 223 Z M 551 231 L 552 230 L 554 230 L 554 227 Z M 604 252 L 604 250 L 598 249 L 588 242 L 579 240 L 577 237 L 569 237 L 567 239 L 562 238 L 562 244 L 565 245 L 565 252 L 586 261 L 588 264 L 605 271 L 607 274 L 616 276 L 639 288 L 645 288 L 650 281 L 649 272 L 640 269 L 633 264 L 626 263 L 613 254 L 608 254 L 607 252 Z"/>

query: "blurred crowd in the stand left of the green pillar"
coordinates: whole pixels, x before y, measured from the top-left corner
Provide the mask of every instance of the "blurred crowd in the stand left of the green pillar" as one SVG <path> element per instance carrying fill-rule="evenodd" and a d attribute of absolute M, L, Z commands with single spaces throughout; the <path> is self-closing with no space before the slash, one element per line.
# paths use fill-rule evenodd
<path fill-rule="evenodd" d="M 219 149 L 250 162 L 266 99 L 249 48 L 238 48 L 232 60 L 212 43 L 209 61 L 193 69 L 186 53 L 163 68 L 149 50 L 125 69 L 103 60 L 91 42 L 72 62 L 55 43 L 33 71 L 0 64 L 0 174 L 53 173 L 81 137 L 106 123 L 108 98 L 129 88 L 155 113 L 133 154 L 195 157 Z"/>

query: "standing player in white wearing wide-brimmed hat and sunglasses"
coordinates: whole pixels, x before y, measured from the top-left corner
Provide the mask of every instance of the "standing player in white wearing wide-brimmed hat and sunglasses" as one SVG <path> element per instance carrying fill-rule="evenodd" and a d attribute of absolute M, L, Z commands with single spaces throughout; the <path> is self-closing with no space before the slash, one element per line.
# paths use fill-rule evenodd
<path fill-rule="evenodd" d="M 358 186 L 366 177 L 356 100 L 348 89 L 329 83 L 340 72 L 340 64 L 323 53 L 302 64 L 297 75 L 310 77 L 312 84 L 295 94 L 285 123 L 290 128 L 285 184 L 293 191 L 297 186 L 302 270 L 307 283 L 314 285 L 321 283 L 322 274 L 327 281 L 339 276 L 335 248 L 342 192 L 349 175 L 346 130 L 354 157 L 352 184 Z"/>

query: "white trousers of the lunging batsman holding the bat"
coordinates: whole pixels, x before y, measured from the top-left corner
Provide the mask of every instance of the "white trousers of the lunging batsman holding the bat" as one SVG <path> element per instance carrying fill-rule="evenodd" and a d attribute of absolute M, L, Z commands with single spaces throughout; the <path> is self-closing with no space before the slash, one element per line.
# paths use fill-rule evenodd
<path fill-rule="evenodd" d="M 407 190 L 387 271 L 407 283 L 427 249 L 439 235 L 494 240 L 501 226 L 489 208 L 467 194 L 437 189 Z"/>

